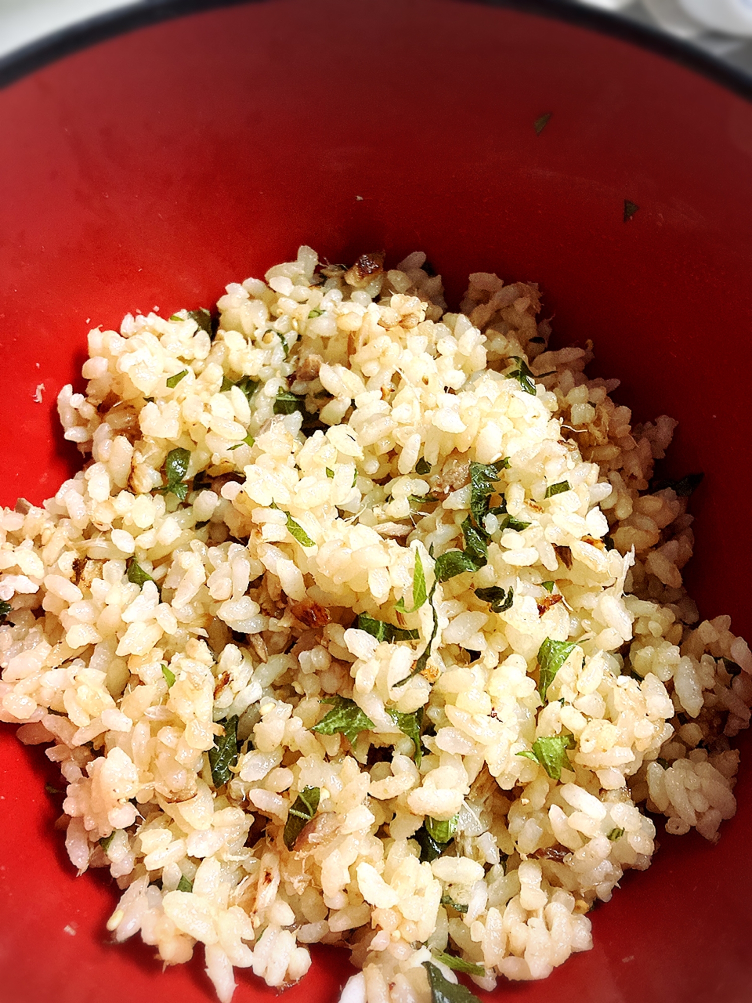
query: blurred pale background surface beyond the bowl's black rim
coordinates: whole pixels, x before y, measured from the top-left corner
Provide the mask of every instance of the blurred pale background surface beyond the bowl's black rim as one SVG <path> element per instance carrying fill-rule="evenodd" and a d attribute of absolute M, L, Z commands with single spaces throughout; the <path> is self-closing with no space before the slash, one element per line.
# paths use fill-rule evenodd
<path fill-rule="evenodd" d="M 44 35 L 106 11 L 137 6 L 143 0 L 0 0 L 0 58 Z M 311 0 L 314 2 L 314 0 Z M 363 0 L 353 0 L 363 2 Z M 658 24 L 728 62 L 752 72 L 752 0 L 580 0 L 602 10 Z M 725 29 L 721 30 L 721 29 Z"/>

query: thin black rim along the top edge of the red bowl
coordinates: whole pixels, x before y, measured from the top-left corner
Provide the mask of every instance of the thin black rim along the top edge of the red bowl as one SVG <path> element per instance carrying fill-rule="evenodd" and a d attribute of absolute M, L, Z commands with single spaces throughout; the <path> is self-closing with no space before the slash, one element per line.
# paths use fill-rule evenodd
<path fill-rule="evenodd" d="M 140 0 L 61 28 L 0 57 L 0 87 L 65 56 L 138 28 L 207 10 L 272 0 Z M 577 0 L 455 0 L 553 18 L 648 49 L 752 100 L 752 74 L 658 28 L 586 7 Z"/>

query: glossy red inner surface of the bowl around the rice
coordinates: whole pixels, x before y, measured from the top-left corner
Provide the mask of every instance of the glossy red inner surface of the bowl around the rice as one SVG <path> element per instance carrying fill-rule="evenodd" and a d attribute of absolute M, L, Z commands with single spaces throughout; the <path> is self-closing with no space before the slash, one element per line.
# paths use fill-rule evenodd
<path fill-rule="evenodd" d="M 532 123 L 552 116 L 537 136 Z M 681 419 L 671 473 L 706 471 L 689 579 L 752 636 L 747 598 L 752 107 L 583 28 L 453 0 L 275 0 L 125 34 L 0 92 L 1 498 L 70 471 L 54 399 L 89 326 L 208 304 L 300 243 L 331 260 L 422 248 L 451 296 L 473 270 L 538 280 L 559 344 L 592 338 L 640 417 Z M 640 206 L 624 223 L 623 204 Z M 33 400 L 44 384 L 41 403 Z M 52 767 L 0 728 L 0 999 L 207 1003 L 197 959 L 115 949 L 115 891 L 75 879 Z M 720 844 L 662 839 L 593 915 L 595 950 L 539 1003 L 752 999 L 750 770 Z M 198 955 L 198 952 L 197 952 Z M 289 1003 L 337 998 L 315 953 Z M 237 1003 L 272 991 L 239 973 Z M 494 996 L 494 998 L 495 998 Z"/>

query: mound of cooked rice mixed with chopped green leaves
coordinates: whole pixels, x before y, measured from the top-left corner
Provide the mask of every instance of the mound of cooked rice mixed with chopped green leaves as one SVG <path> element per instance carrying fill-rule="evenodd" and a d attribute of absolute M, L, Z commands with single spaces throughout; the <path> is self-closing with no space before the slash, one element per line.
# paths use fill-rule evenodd
<path fill-rule="evenodd" d="M 536 286 L 449 313 L 424 263 L 304 247 L 214 321 L 91 331 L 84 467 L 0 516 L 0 718 L 59 762 L 114 939 L 201 943 L 223 1001 L 315 943 L 347 1003 L 543 978 L 651 815 L 735 810 L 752 656 L 682 587 L 675 422 L 547 351 Z"/>

